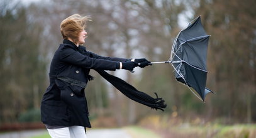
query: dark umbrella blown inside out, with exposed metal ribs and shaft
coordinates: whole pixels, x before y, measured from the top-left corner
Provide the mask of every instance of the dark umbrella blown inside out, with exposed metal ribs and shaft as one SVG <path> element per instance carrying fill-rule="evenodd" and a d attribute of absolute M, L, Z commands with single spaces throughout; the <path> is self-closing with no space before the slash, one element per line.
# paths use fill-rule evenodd
<path fill-rule="evenodd" d="M 199 96 L 196 93 L 194 95 L 204 101 L 209 92 L 213 93 L 206 88 L 208 41 L 209 35 L 206 34 L 199 16 L 176 36 L 169 60 L 151 63 L 170 63 L 174 68 L 176 80 L 187 85 L 194 93 L 192 87 Z"/>

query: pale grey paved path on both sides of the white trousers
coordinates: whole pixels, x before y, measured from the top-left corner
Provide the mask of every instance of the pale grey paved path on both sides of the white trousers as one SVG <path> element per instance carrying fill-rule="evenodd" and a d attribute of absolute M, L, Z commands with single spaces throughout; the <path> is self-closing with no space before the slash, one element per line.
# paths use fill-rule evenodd
<path fill-rule="evenodd" d="M 47 130 L 26 130 L 19 132 L 8 132 L 0 134 L 0 138 L 30 138 L 36 135 L 42 135 L 47 133 Z M 123 129 L 91 129 L 87 130 L 87 138 L 131 138 L 125 130 Z"/>

